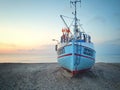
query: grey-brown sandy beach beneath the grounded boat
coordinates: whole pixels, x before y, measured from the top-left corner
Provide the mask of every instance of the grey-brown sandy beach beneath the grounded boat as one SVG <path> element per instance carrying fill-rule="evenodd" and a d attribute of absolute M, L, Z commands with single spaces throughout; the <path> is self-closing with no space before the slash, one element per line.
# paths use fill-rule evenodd
<path fill-rule="evenodd" d="M 0 90 L 120 90 L 120 63 L 66 77 L 57 63 L 0 64 Z"/>

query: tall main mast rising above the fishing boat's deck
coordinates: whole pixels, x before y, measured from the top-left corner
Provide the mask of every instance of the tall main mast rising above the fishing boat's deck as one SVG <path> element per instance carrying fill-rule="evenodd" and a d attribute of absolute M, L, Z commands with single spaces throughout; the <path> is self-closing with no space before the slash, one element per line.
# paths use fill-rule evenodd
<path fill-rule="evenodd" d="M 74 20 L 75 20 L 75 23 L 74 23 L 74 36 L 75 36 L 75 39 L 77 38 L 76 37 L 76 33 L 78 32 L 78 25 L 77 25 L 77 3 L 81 3 L 81 0 L 71 0 L 70 1 L 70 4 L 72 4 L 75 8 L 75 11 L 72 13 L 74 15 Z"/>

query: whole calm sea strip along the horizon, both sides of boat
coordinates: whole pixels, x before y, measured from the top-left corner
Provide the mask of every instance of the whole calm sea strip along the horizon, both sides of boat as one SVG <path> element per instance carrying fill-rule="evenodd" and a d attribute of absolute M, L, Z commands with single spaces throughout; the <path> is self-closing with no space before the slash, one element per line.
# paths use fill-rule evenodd
<path fill-rule="evenodd" d="M 0 63 L 56 63 L 57 55 L 0 54 Z M 120 63 L 120 55 L 96 55 L 96 62 Z"/>

